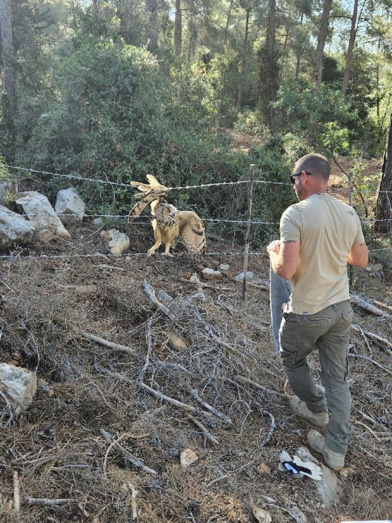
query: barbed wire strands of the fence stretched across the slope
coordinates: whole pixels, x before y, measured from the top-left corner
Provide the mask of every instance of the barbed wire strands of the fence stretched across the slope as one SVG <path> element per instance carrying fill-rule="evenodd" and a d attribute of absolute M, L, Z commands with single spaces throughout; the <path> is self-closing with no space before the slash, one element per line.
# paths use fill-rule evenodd
<path fill-rule="evenodd" d="M 135 189 L 135 186 L 132 184 L 124 184 L 121 182 L 115 182 L 107 179 L 96 179 L 96 178 L 86 178 L 83 176 L 77 176 L 72 174 L 61 174 L 61 173 L 53 173 L 45 170 L 38 170 L 38 169 L 32 169 L 27 167 L 20 167 L 16 165 L 9 165 L 6 163 L 0 162 L 0 167 L 6 168 L 6 169 L 12 169 L 17 172 L 26 172 L 34 175 L 42 175 L 42 176 L 52 176 L 52 177 L 60 177 L 60 178 L 68 178 L 68 179 L 74 179 L 78 181 L 84 181 L 88 183 L 95 183 L 95 184 L 105 184 L 105 185 L 111 185 L 111 186 L 118 186 L 118 187 L 128 187 Z M 259 173 L 259 175 L 266 175 L 270 174 L 268 172 Z M 20 181 L 20 180 L 18 180 Z M 216 183 L 210 183 L 210 184 L 199 184 L 199 185 L 186 185 L 186 186 L 180 186 L 180 187 L 167 187 L 168 191 L 175 191 L 175 190 L 190 190 L 190 189 L 198 189 L 198 188 L 209 188 L 209 187 L 218 187 L 218 186 L 236 186 L 236 185 L 243 185 L 248 184 L 249 185 L 250 180 L 237 180 L 237 181 L 222 181 L 222 182 L 216 182 Z M 280 185 L 280 186 L 291 186 L 291 183 L 285 183 L 281 181 L 267 181 L 267 180 L 252 180 L 253 184 L 262 184 L 262 185 Z M 377 191 L 377 195 L 379 194 L 392 194 L 392 190 L 387 191 Z M 11 212 L 11 211 L 10 211 Z M 57 214 L 53 214 L 55 217 L 57 217 Z M 9 213 L 6 212 L 0 212 L 1 216 L 9 216 Z M 34 213 L 34 214 L 26 214 L 26 213 L 20 213 L 21 217 L 27 217 L 27 218 L 34 218 L 34 217 L 40 217 L 40 216 L 48 216 L 47 213 Z M 74 216 L 74 214 L 61 214 L 61 216 Z M 127 219 L 129 215 L 128 214 L 84 214 L 85 218 L 110 218 L 110 219 Z M 0 218 L 1 220 L 1 218 Z M 137 217 L 137 220 L 132 221 L 133 225 L 136 224 L 145 224 L 147 221 L 151 220 L 150 216 L 139 216 Z M 220 219 L 220 218 L 201 218 L 203 222 L 216 222 L 216 223 L 227 223 L 227 224 L 250 224 L 250 225 L 275 225 L 278 226 L 279 222 L 273 222 L 273 221 L 262 221 L 262 220 L 227 220 L 227 219 Z M 392 219 L 362 219 L 362 224 L 372 224 L 376 222 L 392 222 Z M 370 249 L 369 252 L 382 252 L 382 251 L 392 251 L 392 247 L 383 247 L 383 248 L 377 248 L 377 249 Z M 260 256 L 264 253 L 262 252 L 249 252 L 249 256 Z M 208 253 L 208 255 L 225 255 L 225 256 L 243 256 L 244 253 L 242 252 L 216 252 L 216 253 Z M 52 259 L 52 258 L 97 258 L 102 256 L 102 254 L 41 254 L 41 255 L 22 255 L 20 252 L 15 252 L 9 255 L 0 255 L 1 258 L 6 259 L 23 259 L 23 258 L 35 258 L 35 259 Z M 131 258 L 135 256 L 145 256 L 145 253 L 126 253 L 121 255 L 114 255 L 114 254 L 108 254 L 105 253 L 105 256 L 110 257 L 119 257 L 119 258 Z"/>

